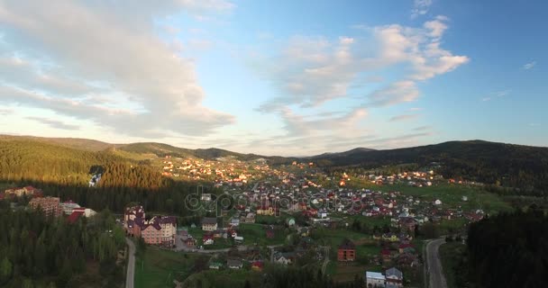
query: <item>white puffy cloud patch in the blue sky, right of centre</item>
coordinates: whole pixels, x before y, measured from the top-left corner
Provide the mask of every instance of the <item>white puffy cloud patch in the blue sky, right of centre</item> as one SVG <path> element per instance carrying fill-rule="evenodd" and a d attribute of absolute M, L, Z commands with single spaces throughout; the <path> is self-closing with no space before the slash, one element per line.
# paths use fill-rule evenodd
<path fill-rule="evenodd" d="M 296 36 L 278 55 L 261 59 L 261 75 L 280 96 L 260 106 L 271 112 L 297 104 L 317 107 L 327 101 L 348 97 L 351 87 L 367 87 L 361 74 L 375 75 L 384 69 L 407 67 L 406 75 L 372 94 L 365 104 L 386 106 L 416 100 L 417 81 L 443 75 L 469 61 L 441 47 L 447 17 L 437 16 L 420 28 L 397 24 L 371 27 L 365 37 Z"/>

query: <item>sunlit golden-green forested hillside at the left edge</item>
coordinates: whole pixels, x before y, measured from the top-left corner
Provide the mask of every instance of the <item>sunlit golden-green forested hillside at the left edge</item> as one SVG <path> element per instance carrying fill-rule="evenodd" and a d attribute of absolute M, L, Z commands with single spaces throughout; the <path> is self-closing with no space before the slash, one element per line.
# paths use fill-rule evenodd
<path fill-rule="evenodd" d="M 97 170 L 99 169 L 99 170 Z M 102 171 L 100 186 L 159 187 L 160 172 L 110 151 L 91 152 L 31 139 L 0 139 L 0 181 L 85 185 Z"/>

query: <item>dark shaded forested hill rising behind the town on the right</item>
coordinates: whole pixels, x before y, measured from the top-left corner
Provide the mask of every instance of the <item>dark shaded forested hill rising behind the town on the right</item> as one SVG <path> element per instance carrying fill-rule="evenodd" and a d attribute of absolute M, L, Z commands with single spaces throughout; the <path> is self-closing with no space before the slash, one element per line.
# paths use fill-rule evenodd
<path fill-rule="evenodd" d="M 482 140 L 390 150 L 357 150 L 354 153 L 315 157 L 314 160 L 320 166 L 364 169 L 409 163 L 428 166 L 437 162 L 441 164 L 439 172 L 448 177 L 464 177 L 528 191 L 548 187 L 548 148 Z"/>

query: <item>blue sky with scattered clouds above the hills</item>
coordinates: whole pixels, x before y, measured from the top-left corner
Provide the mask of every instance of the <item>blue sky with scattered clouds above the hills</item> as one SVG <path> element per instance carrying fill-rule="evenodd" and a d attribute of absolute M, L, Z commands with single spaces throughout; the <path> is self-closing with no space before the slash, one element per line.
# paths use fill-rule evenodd
<path fill-rule="evenodd" d="M 0 0 L 0 134 L 548 146 L 548 2 Z"/>

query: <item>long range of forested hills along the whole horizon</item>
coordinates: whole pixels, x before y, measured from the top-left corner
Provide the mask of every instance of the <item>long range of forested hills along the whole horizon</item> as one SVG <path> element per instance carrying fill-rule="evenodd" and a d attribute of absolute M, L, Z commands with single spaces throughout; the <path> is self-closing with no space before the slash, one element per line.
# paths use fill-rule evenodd
<path fill-rule="evenodd" d="M 151 155 L 165 157 L 196 157 L 215 159 L 235 157 L 242 161 L 264 158 L 270 165 L 288 164 L 294 160 L 314 162 L 316 166 L 328 169 L 371 169 L 382 166 L 416 164 L 429 166 L 433 162 L 441 164 L 439 173 L 448 177 L 463 177 L 486 184 L 502 184 L 520 187 L 526 191 L 544 191 L 548 187 L 548 148 L 495 143 L 483 140 L 450 141 L 441 144 L 413 148 L 373 150 L 353 148 L 338 153 L 324 153 L 312 157 L 265 157 L 256 154 L 242 154 L 221 148 L 178 148 L 161 143 L 108 144 L 90 139 L 48 139 L 38 137 L 0 136 L 2 141 L 20 141 L 23 150 L 4 151 L 11 157 L 19 157 L 24 152 L 25 161 L 41 163 L 40 157 L 34 157 L 33 149 L 47 150 L 47 157 L 74 158 L 76 151 L 101 152 L 99 154 L 79 154 L 78 157 L 109 158 L 115 161 L 142 161 Z M 34 143 L 34 144 L 32 144 Z M 46 145 L 47 144 L 47 145 Z M 44 146 L 46 145 L 46 146 Z M 14 148 L 14 143 L 10 147 Z M 62 149 L 65 148 L 65 149 Z M 67 150 L 70 148 L 70 150 Z M 1 151 L 0 151 L 1 152 Z M 106 152 L 106 153 L 105 153 Z M 23 157 L 19 157 L 23 158 Z M 90 159 L 91 160 L 91 159 Z M 85 161 L 88 162 L 88 161 Z M 89 163 L 89 162 L 88 162 Z M 7 166 L 6 166 L 7 165 Z M 0 163 L 9 168 L 9 163 Z M 56 167 L 57 168 L 57 167 Z M 1 172 L 1 171 L 0 171 Z"/>

